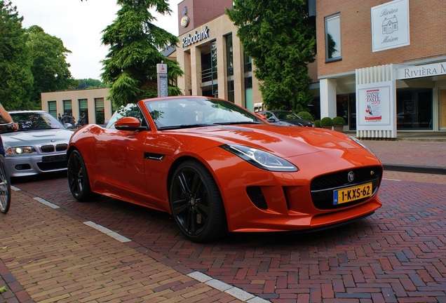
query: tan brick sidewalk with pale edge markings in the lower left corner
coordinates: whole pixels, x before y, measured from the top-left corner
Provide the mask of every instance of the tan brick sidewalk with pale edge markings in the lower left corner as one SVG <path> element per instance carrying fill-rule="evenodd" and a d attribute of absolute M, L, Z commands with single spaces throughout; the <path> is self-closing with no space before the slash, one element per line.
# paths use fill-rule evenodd
<path fill-rule="evenodd" d="M 39 198 L 12 198 L 0 217 L 0 302 L 265 302 Z"/>

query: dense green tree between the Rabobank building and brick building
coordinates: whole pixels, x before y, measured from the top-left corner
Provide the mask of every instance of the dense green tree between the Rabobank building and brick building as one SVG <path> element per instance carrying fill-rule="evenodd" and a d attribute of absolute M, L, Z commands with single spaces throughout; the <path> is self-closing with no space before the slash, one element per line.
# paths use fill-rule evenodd
<path fill-rule="evenodd" d="M 255 65 L 266 107 L 302 111 L 313 100 L 308 64 L 316 53 L 308 0 L 234 0 L 227 15 Z"/>

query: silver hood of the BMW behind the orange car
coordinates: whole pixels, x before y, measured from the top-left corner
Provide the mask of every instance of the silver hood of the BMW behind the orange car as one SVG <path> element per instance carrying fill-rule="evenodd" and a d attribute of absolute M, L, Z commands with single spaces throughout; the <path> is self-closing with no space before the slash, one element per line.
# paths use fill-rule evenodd
<path fill-rule="evenodd" d="M 4 145 L 18 146 L 21 144 L 39 145 L 47 142 L 65 142 L 68 143 L 72 136 L 71 130 L 64 129 L 46 129 L 46 130 L 28 130 L 14 133 L 1 134 Z"/>

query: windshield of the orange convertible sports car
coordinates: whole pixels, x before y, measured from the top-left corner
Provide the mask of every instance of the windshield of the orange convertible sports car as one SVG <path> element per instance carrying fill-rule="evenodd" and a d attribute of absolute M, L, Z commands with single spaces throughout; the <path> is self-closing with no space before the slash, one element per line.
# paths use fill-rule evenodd
<path fill-rule="evenodd" d="M 178 97 L 145 104 L 158 129 L 264 123 L 255 114 L 225 100 Z"/>

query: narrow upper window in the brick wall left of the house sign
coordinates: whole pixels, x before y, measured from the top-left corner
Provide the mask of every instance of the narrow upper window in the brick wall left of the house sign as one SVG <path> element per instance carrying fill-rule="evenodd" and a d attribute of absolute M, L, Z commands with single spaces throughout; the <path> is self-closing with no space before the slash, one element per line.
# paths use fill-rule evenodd
<path fill-rule="evenodd" d="M 325 61 L 342 60 L 341 14 L 325 17 Z"/>

